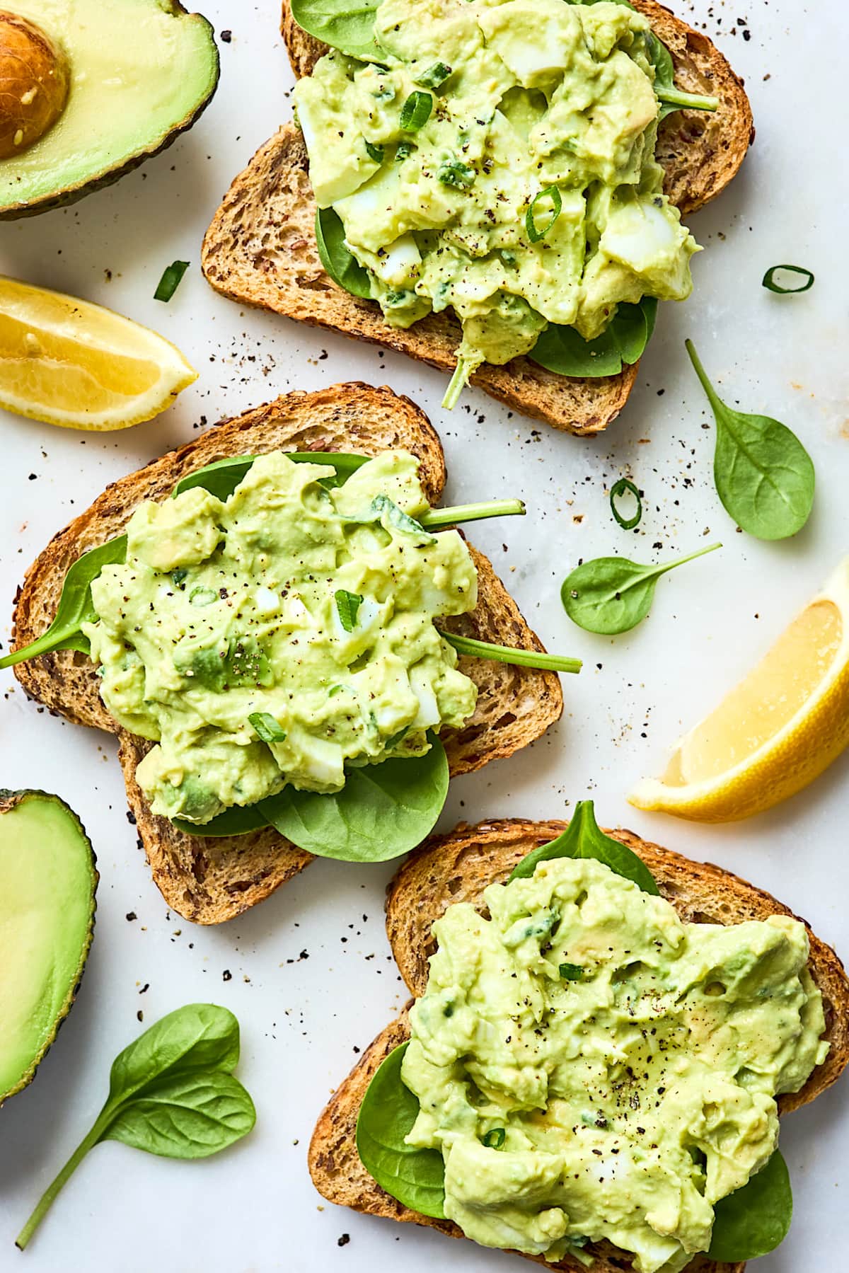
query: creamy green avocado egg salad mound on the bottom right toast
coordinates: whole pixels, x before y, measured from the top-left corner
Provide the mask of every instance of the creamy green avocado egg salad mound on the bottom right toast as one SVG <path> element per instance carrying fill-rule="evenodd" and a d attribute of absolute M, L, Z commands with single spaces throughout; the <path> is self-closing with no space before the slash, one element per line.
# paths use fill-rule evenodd
<path fill-rule="evenodd" d="M 685 924 L 589 859 L 484 903 L 434 924 L 402 1068 L 446 1216 L 485 1246 L 556 1260 L 608 1239 L 678 1273 L 773 1153 L 775 1096 L 827 1053 L 804 925 Z"/>

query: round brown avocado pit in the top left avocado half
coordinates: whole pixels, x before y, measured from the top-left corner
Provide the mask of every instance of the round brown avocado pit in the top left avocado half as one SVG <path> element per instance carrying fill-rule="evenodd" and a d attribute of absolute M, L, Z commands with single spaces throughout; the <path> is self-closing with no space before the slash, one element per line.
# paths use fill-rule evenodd
<path fill-rule="evenodd" d="M 0 10 L 0 159 L 20 154 L 65 109 L 70 67 L 42 27 Z"/>

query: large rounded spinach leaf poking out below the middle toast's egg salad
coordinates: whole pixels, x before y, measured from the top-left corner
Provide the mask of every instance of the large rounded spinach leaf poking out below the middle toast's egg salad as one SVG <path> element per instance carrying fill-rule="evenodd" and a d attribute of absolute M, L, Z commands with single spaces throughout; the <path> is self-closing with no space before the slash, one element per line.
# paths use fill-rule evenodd
<path fill-rule="evenodd" d="M 281 835 L 316 857 L 387 862 L 421 844 L 447 796 L 446 751 L 430 735 L 424 756 L 349 769 L 341 792 L 322 796 L 285 787 L 257 807 Z"/>

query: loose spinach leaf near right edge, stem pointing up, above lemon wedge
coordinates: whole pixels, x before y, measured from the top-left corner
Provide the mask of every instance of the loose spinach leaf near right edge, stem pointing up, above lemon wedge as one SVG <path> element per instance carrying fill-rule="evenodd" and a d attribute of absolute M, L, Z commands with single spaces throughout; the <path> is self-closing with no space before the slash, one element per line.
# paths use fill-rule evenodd
<path fill-rule="evenodd" d="M 713 476 L 726 512 L 759 540 L 789 538 L 811 516 L 813 461 L 787 425 L 727 406 L 692 341 L 685 345 L 717 421 Z"/>

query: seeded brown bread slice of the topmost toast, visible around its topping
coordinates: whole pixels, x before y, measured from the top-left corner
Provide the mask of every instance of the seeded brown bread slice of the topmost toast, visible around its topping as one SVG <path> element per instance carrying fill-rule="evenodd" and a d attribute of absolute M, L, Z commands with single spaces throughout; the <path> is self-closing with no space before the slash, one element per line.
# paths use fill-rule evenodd
<path fill-rule="evenodd" d="M 720 102 L 715 115 L 678 111 L 661 123 L 657 157 L 666 169 L 664 190 L 686 215 L 724 190 L 743 162 L 754 137 L 751 107 L 742 80 L 706 36 L 654 0 L 635 0 L 635 8 L 670 48 L 676 84 Z M 283 36 L 295 75 L 308 75 L 326 46 L 298 27 L 288 0 Z M 215 214 L 201 258 L 207 281 L 233 300 L 453 370 L 461 340 L 457 321 L 440 313 L 407 331 L 389 327 L 374 302 L 350 295 L 327 276 L 318 258 L 314 219 L 307 150 L 299 129 L 286 123 L 257 150 Z M 504 367 L 485 364 L 472 376 L 474 384 L 513 410 L 577 434 L 607 428 L 635 379 L 636 365 L 622 368 L 619 376 L 575 379 L 527 358 Z"/>

